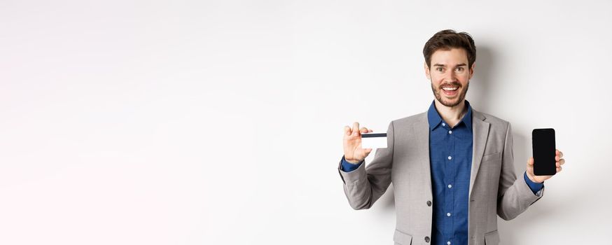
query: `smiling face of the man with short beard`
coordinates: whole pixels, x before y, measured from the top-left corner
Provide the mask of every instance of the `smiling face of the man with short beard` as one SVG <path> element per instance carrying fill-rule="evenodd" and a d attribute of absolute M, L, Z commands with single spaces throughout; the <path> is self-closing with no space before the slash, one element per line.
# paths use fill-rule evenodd
<path fill-rule="evenodd" d="M 463 48 L 437 50 L 431 55 L 431 68 L 425 63 L 425 74 L 431 80 L 431 91 L 440 104 L 457 106 L 468 92 L 475 64 L 468 69 L 468 55 Z"/>

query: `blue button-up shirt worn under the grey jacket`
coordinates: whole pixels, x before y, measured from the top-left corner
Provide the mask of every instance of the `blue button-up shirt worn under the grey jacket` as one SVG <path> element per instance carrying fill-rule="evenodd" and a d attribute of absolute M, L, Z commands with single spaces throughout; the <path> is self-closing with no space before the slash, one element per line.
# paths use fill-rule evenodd
<path fill-rule="evenodd" d="M 472 108 L 465 102 L 467 113 L 450 127 L 431 103 L 429 120 L 429 160 L 433 191 L 433 224 L 431 244 L 468 244 L 468 203 L 472 167 Z M 359 164 L 342 158 L 342 171 L 351 172 Z M 524 174 L 529 188 L 536 193 L 543 186 L 533 183 Z"/>

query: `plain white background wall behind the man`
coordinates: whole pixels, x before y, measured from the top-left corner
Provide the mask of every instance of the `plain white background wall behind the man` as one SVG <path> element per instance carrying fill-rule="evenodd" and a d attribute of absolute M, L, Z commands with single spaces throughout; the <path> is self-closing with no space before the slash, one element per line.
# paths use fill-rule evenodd
<path fill-rule="evenodd" d="M 608 242 L 611 9 L 0 1 L 0 244 L 391 244 L 392 187 L 342 192 L 342 127 L 426 111 L 441 29 L 475 38 L 468 100 L 513 124 L 519 176 L 534 128 L 566 156 L 503 244 Z"/>

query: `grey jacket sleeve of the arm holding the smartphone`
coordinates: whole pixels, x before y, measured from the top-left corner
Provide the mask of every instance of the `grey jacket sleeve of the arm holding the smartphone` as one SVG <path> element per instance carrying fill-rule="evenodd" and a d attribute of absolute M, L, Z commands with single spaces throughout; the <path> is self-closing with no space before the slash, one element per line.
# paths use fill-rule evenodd
<path fill-rule="evenodd" d="M 506 221 L 516 218 L 543 196 L 543 190 L 542 188 L 541 195 L 537 196 L 531 191 L 523 178 L 517 179 L 514 169 L 512 127 L 508 123 L 501 160 L 497 215 Z"/>

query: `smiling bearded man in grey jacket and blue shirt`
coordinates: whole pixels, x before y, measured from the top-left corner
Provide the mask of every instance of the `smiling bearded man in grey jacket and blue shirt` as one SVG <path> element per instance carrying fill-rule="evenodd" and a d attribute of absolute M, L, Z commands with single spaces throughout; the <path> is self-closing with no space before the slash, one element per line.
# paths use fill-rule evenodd
<path fill-rule="evenodd" d="M 387 148 L 361 148 L 354 123 L 345 127 L 339 171 L 349 204 L 368 209 L 394 183 L 396 244 L 499 244 L 497 217 L 510 220 L 543 195 L 551 176 L 534 175 L 534 159 L 514 171 L 510 123 L 465 100 L 476 49 L 467 33 L 439 31 L 425 44 L 425 75 L 435 99 L 429 110 L 389 123 Z M 557 151 L 557 172 L 565 160 Z"/>

